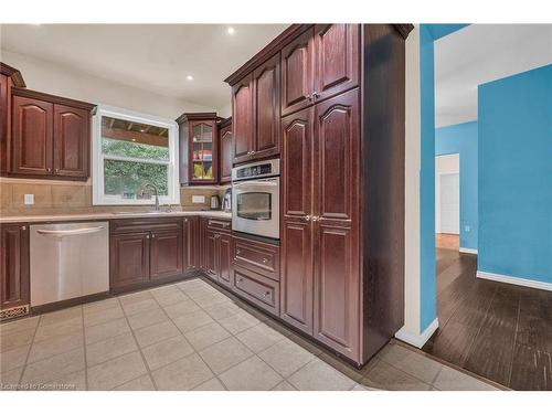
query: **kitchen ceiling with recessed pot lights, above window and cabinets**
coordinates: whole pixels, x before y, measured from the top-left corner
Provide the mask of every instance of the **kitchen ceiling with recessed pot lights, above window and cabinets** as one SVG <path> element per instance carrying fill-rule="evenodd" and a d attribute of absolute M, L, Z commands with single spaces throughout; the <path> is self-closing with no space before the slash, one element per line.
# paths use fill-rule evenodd
<path fill-rule="evenodd" d="M 287 24 L 2 24 L 1 49 L 213 109 L 223 79 Z M 188 81 L 187 76 L 193 76 Z"/>

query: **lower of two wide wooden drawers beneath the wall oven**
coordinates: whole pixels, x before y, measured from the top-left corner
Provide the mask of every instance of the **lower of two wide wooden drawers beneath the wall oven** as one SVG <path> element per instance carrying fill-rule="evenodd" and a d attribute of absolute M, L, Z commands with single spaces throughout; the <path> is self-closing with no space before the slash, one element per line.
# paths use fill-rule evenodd
<path fill-rule="evenodd" d="M 279 315 L 279 283 L 240 266 L 233 266 L 232 276 L 232 290 L 236 295 Z"/>

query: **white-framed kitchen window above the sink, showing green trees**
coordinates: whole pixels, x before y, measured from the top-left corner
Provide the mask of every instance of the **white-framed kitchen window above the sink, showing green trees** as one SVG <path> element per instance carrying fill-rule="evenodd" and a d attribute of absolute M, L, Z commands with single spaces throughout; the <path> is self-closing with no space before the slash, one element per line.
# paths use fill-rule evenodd
<path fill-rule="evenodd" d="M 174 121 L 98 106 L 93 157 L 93 204 L 180 203 Z"/>

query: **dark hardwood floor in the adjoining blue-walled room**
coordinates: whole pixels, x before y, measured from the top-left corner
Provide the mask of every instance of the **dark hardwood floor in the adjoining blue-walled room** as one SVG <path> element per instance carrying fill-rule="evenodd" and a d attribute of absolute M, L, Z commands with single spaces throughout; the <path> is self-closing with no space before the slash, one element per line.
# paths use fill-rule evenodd
<path fill-rule="evenodd" d="M 439 329 L 423 350 L 513 390 L 552 390 L 552 291 L 478 279 L 474 255 L 436 257 Z"/>

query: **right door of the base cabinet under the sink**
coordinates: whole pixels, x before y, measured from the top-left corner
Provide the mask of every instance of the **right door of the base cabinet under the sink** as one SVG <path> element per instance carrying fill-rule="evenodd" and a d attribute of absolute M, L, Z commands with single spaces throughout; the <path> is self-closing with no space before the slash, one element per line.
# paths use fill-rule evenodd
<path fill-rule="evenodd" d="M 182 274 L 182 232 L 151 232 L 150 278 Z"/>

